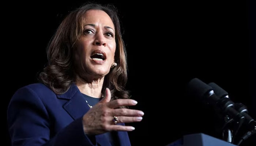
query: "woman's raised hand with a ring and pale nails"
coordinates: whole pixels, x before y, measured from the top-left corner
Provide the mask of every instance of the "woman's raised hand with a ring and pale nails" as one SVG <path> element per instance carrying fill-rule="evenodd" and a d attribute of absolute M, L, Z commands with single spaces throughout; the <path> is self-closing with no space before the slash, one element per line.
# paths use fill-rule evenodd
<path fill-rule="evenodd" d="M 136 105 L 132 99 L 116 99 L 110 101 L 111 93 L 106 88 L 105 96 L 83 116 L 83 129 L 87 135 L 97 135 L 109 131 L 132 131 L 132 126 L 118 123 L 140 122 L 144 113 L 139 110 L 118 108 Z M 115 116 L 115 117 L 114 117 Z"/>

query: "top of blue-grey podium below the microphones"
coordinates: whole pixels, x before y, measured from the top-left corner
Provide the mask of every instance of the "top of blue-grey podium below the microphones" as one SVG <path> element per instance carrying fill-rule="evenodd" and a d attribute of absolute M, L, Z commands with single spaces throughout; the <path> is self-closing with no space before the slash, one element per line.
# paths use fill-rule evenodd
<path fill-rule="evenodd" d="M 203 133 L 184 135 L 166 146 L 237 146 Z"/>

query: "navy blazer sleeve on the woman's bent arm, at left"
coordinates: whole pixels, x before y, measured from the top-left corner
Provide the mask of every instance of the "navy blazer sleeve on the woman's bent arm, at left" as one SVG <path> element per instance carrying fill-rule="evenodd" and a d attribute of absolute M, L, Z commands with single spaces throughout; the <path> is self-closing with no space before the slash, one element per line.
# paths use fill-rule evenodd
<path fill-rule="evenodd" d="M 28 87 L 15 92 L 8 105 L 7 124 L 12 146 L 93 146 L 84 134 L 82 118 L 51 135 L 51 120 L 43 101 Z"/>

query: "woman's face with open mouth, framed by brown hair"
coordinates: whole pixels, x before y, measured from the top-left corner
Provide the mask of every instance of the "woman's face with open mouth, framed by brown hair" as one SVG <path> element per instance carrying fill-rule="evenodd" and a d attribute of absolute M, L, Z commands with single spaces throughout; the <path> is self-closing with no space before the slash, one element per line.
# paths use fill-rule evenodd
<path fill-rule="evenodd" d="M 75 50 L 75 64 L 80 76 L 103 77 L 109 73 L 116 51 L 115 29 L 106 12 L 85 13 L 81 35 Z"/>

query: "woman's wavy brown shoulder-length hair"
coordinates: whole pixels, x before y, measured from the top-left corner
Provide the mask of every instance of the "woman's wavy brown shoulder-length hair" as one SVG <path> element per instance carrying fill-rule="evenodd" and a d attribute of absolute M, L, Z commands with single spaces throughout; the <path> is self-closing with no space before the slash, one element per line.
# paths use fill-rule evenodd
<path fill-rule="evenodd" d="M 84 14 L 90 9 L 105 11 L 112 19 L 116 32 L 114 60 L 117 66 L 110 69 L 110 72 L 105 76 L 102 93 L 104 93 L 105 88 L 109 88 L 112 93 L 112 100 L 117 98 L 127 99 L 129 93 L 124 88 L 127 83 L 126 49 L 120 31 L 117 9 L 109 4 L 84 4 L 65 17 L 47 46 L 48 65 L 39 73 L 39 81 L 51 88 L 56 94 L 67 92 L 74 84 L 75 73 L 72 71 L 74 69 L 72 49 L 74 49 L 83 33 Z"/>

